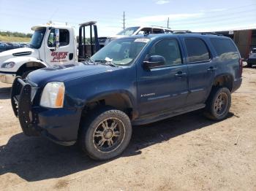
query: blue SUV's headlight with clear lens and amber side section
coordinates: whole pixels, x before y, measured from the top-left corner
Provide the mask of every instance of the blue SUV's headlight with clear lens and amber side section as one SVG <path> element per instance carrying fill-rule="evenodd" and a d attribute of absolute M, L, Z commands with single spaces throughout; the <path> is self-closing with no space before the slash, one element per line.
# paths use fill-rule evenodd
<path fill-rule="evenodd" d="M 65 86 L 63 82 L 49 82 L 42 91 L 40 106 L 61 108 L 64 103 Z"/>

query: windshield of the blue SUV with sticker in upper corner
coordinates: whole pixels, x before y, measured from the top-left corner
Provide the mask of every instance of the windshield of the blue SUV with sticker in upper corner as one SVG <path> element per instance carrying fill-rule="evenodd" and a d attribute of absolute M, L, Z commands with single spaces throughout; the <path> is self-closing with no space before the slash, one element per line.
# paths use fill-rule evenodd
<path fill-rule="evenodd" d="M 95 53 L 91 60 L 106 61 L 116 66 L 129 66 L 150 39 L 116 39 Z"/>

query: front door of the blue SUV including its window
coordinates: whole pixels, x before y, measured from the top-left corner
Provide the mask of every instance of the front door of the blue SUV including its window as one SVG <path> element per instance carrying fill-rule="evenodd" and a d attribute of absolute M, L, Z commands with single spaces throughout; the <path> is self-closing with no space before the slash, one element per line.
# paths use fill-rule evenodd
<path fill-rule="evenodd" d="M 182 61 L 177 39 L 163 39 L 153 45 L 147 57 L 161 55 L 165 66 L 147 71 L 138 65 L 140 115 L 167 112 L 184 106 L 188 93 L 187 65 Z"/>

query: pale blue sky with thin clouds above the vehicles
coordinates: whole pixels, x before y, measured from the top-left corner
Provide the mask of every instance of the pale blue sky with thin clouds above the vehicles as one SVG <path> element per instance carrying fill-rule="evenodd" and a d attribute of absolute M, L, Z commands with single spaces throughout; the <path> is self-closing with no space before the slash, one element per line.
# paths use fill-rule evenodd
<path fill-rule="evenodd" d="M 255 0 L 0 0 L 0 30 L 32 32 L 31 26 L 69 23 L 75 26 L 96 20 L 99 36 L 121 31 L 122 14 L 126 26 L 154 25 L 191 31 L 220 31 L 256 28 Z"/>

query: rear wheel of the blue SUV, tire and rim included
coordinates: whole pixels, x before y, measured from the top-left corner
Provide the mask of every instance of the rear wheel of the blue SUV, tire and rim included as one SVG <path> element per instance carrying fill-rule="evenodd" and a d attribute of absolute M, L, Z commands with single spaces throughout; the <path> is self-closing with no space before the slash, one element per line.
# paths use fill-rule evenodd
<path fill-rule="evenodd" d="M 224 120 L 230 110 L 231 94 L 227 87 L 215 87 L 206 101 L 205 116 L 210 120 Z"/>

